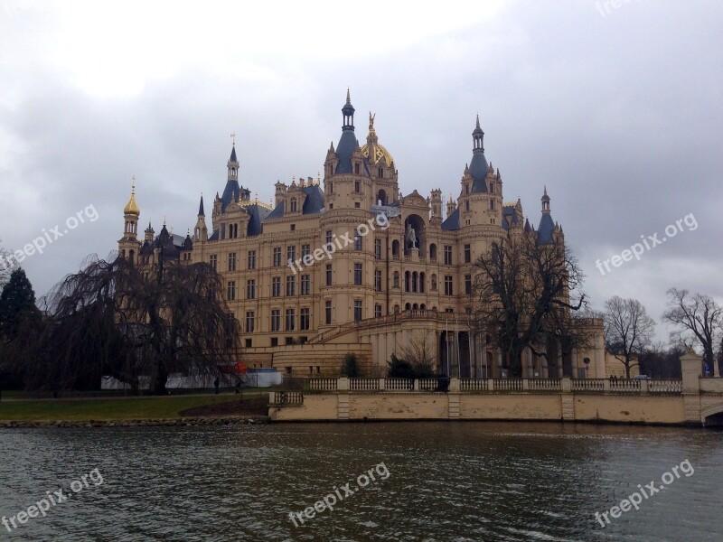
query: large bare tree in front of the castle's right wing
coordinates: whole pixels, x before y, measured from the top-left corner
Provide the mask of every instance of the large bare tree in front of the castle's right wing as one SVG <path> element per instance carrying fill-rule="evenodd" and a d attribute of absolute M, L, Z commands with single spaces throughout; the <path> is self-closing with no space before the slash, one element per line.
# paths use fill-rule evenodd
<path fill-rule="evenodd" d="M 478 258 L 474 327 L 502 350 L 512 377 L 521 377 L 526 348 L 555 365 L 560 355 L 590 345 L 590 320 L 576 316 L 587 308 L 583 277 L 561 238 L 539 243 L 534 231 L 510 229 Z"/>

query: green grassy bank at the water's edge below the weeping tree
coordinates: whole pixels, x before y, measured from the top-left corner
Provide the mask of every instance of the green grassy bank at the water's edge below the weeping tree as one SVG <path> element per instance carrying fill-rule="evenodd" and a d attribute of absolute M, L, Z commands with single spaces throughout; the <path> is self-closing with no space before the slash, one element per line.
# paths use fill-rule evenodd
<path fill-rule="evenodd" d="M 234 394 L 123 397 L 57 400 L 17 400 L 0 402 L 0 420 L 129 420 L 178 418 L 184 410 L 221 403 L 239 403 L 239 399 L 263 397 L 267 391 L 246 390 L 243 396 Z M 225 409 L 221 409 L 225 410 Z"/>

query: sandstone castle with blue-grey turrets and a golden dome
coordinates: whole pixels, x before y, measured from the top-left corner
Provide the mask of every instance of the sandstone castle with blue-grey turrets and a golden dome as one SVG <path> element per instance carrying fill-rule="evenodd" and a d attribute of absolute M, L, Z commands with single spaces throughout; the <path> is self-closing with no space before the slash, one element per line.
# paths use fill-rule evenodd
<path fill-rule="evenodd" d="M 392 353 L 411 343 L 431 350 L 439 372 L 461 378 L 501 378 L 506 361 L 469 322 L 474 262 L 509 229 L 564 243 L 552 220 L 547 189 L 537 229 L 521 201 L 502 200 L 502 175 L 484 155 L 479 116 L 472 159 L 459 197 L 442 191 L 402 195 L 392 154 L 379 142 L 370 114 L 360 145 L 347 91 L 339 143 L 324 160 L 324 180 L 276 183 L 274 205 L 251 200 L 239 184 L 235 142 L 228 178 L 216 193 L 208 228 L 203 198 L 192 235 L 158 236 L 148 225 L 137 236 L 140 209 L 135 184 L 124 209 L 120 257 L 140 266 L 159 258 L 180 265 L 207 262 L 223 277 L 226 299 L 240 323 L 240 359 L 291 376 L 338 376 L 347 352 L 365 376 L 386 373 Z M 443 214 L 443 208 L 446 212 Z M 586 351 L 550 363 L 526 351 L 526 378 L 604 378 L 601 324 Z"/>

